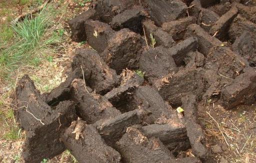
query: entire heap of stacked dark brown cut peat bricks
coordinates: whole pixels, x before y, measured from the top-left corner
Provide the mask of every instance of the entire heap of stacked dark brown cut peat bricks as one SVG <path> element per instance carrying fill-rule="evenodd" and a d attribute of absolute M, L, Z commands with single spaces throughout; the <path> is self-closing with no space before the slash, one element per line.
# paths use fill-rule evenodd
<path fill-rule="evenodd" d="M 80 163 L 212 159 L 197 106 L 256 99 L 255 6 L 230 1 L 92 0 L 68 21 L 93 49 L 75 50 L 66 80 L 43 94 L 28 75 L 17 82 L 24 160 L 66 148 Z"/>

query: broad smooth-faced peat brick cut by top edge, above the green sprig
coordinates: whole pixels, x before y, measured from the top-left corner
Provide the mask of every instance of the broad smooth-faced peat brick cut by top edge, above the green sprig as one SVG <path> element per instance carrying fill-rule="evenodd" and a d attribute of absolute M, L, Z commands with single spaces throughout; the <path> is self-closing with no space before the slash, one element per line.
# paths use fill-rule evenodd
<path fill-rule="evenodd" d="M 148 0 L 149 13 L 158 25 L 184 17 L 187 6 L 181 0 Z"/>

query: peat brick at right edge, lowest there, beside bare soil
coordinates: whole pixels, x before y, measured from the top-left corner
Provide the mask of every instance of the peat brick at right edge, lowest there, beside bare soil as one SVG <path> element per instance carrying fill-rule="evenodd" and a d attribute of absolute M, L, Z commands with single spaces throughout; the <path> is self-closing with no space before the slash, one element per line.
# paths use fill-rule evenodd
<path fill-rule="evenodd" d="M 221 90 L 221 99 L 225 108 L 239 104 L 253 104 L 256 100 L 256 71 L 248 67 L 233 82 Z"/>

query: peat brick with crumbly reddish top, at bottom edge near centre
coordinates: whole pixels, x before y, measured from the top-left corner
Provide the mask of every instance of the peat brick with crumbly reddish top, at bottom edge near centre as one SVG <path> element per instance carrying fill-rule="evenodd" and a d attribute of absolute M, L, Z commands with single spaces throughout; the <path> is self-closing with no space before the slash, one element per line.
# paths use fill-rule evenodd
<path fill-rule="evenodd" d="M 135 127 L 127 128 L 115 148 L 122 155 L 123 162 L 157 162 L 173 157 L 158 138 L 147 138 Z"/>

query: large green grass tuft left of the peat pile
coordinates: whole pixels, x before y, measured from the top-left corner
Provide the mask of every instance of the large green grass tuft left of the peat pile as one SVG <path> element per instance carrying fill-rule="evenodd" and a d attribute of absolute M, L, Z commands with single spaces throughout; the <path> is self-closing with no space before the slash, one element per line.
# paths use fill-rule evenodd
<path fill-rule="evenodd" d="M 46 59 L 45 51 L 61 40 L 62 31 L 56 34 L 57 31 L 47 30 L 53 25 L 53 13 L 43 8 L 35 17 L 26 17 L 11 27 L 14 33 L 13 44 L 0 51 L 0 77 L 6 79 L 20 66 L 38 66 L 41 60 Z M 5 37 L 11 37 L 11 30 L 6 32 L 8 34 L 4 34 Z"/>

